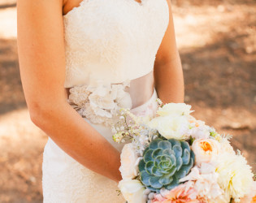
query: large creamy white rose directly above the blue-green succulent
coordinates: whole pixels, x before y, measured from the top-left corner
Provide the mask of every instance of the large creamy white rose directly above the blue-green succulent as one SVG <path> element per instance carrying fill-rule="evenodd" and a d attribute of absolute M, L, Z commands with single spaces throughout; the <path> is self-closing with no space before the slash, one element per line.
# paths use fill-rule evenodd
<path fill-rule="evenodd" d="M 189 121 L 185 116 L 159 116 L 152 119 L 149 125 L 167 139 L 185 140 L 189 138 Z"/>

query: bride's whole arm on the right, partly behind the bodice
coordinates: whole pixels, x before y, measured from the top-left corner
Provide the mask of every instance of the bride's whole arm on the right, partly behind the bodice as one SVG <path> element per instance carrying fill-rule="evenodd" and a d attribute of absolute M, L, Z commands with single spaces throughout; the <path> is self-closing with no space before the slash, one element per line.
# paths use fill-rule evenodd
<path fill-rule="evenodd" d="M 176 47 L 176 37 L 169 6 L 169 24 L 158 49 L 154 63 L 155 88 L 163 103 L 184 102 L 184 78 L 180 63 L 180 55 Z"/>

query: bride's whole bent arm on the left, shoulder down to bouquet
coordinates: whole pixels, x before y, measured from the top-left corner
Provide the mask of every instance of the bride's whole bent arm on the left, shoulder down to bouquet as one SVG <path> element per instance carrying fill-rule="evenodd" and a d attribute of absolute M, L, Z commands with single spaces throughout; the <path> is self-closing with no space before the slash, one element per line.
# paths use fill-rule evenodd
<path fill-rule="evenodd" d="M 18 0 L 20 76 L 30 117 L 66 153 L 119 181 L 119 152 L 67 103 L 62 0 Z"/>

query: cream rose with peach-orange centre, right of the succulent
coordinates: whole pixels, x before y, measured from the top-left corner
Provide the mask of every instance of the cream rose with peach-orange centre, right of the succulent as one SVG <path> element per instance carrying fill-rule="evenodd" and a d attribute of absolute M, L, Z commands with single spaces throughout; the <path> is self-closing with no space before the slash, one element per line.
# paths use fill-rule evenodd
<path fill-rule="evenodd" d="M 202 162 L 214 162 L 219 154 L 219 142 L 213 139 L 198 139 L 193 141 L 193 153 L 195 153 L 196 165 Z"/>

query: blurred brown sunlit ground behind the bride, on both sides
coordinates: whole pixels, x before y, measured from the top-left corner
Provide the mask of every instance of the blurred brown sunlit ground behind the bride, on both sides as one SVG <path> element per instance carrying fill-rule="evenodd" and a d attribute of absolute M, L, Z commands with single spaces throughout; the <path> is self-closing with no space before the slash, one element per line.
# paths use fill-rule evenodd
<path fill-rule="evenodd" d="M 256 1 L 171 3 L 185 102 L 197 119 L 232 135 L 255 172 Z M 15 0 L 0 0 L 0 202 L 41 202 L 47 136 L 29 119 L 16 35 Z"/>

